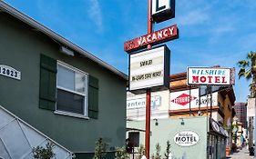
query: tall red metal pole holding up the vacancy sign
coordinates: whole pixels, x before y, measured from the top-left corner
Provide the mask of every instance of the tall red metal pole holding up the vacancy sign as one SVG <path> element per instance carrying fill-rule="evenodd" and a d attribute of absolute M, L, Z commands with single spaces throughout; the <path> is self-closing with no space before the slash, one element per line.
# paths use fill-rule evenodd
<path fill-rule="evenodd" d="M 148 0 L 148 34 L 152 33 L 152 21 L 151 21 L 151 0 Z M 151 48 L 151 45 L 148 45 Z M 150 148 L 150 105 L 151 103 L 151 92 L 147 89 L 146 96 L 146 134 L 145 134 L 145 149 L 146 157 L 149 159 L 149 148 Z"/>

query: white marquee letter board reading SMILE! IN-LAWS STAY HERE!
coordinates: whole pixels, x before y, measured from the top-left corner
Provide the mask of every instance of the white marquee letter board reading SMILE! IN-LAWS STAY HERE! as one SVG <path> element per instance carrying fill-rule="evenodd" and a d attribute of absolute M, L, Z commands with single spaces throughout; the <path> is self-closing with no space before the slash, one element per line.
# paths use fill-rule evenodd
<path fill-rule="evenodd" d="M 169 86 L 169 49 L 163 45 L 129 58 L 129 90 L 139 90 L 155 86 Z M 169 60 L 169 59 L 168 59 Z M 168 84 L 168 85 L 167 85 Z"/>

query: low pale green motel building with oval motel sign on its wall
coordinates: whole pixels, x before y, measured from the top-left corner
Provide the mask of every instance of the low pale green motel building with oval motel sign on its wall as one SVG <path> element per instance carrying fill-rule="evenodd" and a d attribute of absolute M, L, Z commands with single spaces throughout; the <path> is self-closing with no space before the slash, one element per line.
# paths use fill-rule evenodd
<path fill-rule="evenodd" d="M 139 130 L 145 128 L 145 122 L 129 121 L 127 125 L 127 137 L 137 134 L 138 143 L 144 144 L 145 133 Z M 220 124 L 207 116 L 151 120 L 150 154 L 156 154 L 159 144 L 163 156 L 169 141 L 172 158 L 221 159 L 225 158 L 227 135 Z"/>

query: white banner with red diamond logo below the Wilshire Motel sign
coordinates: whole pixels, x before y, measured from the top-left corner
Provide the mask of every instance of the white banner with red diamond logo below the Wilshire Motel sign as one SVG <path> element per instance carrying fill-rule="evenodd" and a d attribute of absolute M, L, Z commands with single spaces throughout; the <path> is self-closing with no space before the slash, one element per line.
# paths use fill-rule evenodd
<path fill-rule="evenodd" d="M 210 107 L 210 95 L 203 95 L 199 98 L 199 89 L 191 89 L 190 95 L 189 90 L 172 92 L 170 95 L 169 110 L 180 110 L 189 109 L 189 100 L 191 108 Z M 212 105 L 218 105 L 218 94 L 212 94 Z"/>

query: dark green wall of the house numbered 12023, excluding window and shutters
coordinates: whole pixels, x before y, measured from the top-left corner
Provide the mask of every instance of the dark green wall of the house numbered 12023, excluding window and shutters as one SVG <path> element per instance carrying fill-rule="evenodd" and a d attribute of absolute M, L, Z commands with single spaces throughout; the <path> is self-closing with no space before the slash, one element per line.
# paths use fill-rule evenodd
<path fill-rule="evenodd" d="M 126 81 L 81 55 L 59 53 L 59 45 L 10 15 L 0 13 L 0 65 L 21 72 L 21 80 L 0 75 L 0 104 L 73 152 L 93 152 L 98 137 L 109 147 L 125 143 Z M 99 80 L 98 119 L 54 114 L 39 104 L 40 54 L 73 65 Z M 113 89 L 115 88 L 115 89 Z"/>

